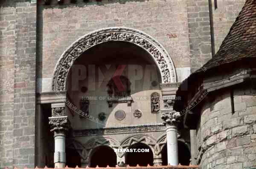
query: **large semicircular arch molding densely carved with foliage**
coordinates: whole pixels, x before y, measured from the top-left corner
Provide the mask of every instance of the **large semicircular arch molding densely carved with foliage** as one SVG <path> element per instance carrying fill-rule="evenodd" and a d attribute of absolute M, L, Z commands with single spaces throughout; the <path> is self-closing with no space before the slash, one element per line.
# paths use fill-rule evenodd
<path fill-rule="evenodd" d="M 112 27 L 86 34 L 74 42 L 61 55 L 55 67 L 52 90 L 66 90 L 66 80 L 73 62 L 89 48 L 109 41 L 124 41 L 140 46 L 154 59 L 160 70 L 162 83 L 177 82 L 175 66 L 172 59 L 160 43 L 141 31 L 131 28 Z"/>

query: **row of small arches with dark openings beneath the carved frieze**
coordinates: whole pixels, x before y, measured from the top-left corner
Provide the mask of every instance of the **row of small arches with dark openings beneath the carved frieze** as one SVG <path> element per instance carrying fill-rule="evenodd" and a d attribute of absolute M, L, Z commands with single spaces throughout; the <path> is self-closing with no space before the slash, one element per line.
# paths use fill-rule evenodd
<path fill-rule="evenodd" d="M 121 152 L 118 149 L 148 149 L 148 152 Z M 111 166 L 156 166 L 167 165 L 167 139 L 166 134 L 157 140 L 148 135 L 133 135 L 124 141 L 113 138 L 92 138 L 86 144 L 70 140 L 67 144 L 67 163 L 69 167 L 106 167 Z M 189 144 L 183 139 L 178 139 L 178 156 L 181 165 L 190 163 Z M 74 163 L 74 157 L 76 162 Z"/>

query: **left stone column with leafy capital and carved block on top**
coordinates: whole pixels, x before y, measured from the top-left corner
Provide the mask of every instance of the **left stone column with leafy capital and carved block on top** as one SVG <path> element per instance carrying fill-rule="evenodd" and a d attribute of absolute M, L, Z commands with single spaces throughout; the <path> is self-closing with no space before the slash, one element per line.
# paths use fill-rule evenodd
<path fill-rule="evenodd" d="M 65 116 L 65 107 L 53 107 L 52 117 L 49 117 L 51 132 L 54 132 L 54 166 L 64 168 L 66 164 L 65 136 L 70 128 L 70 121 Z"/>

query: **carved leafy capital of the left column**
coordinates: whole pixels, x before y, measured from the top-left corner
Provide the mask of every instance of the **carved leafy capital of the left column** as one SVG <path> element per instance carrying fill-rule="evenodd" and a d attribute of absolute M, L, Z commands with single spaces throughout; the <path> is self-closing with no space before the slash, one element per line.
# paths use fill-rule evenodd
<path fill-rule="evenodd" d="M 70 128 L 70 121 L 67 116 L 49 117 L 49 125 L 54 135 L 65 134 Z"/>

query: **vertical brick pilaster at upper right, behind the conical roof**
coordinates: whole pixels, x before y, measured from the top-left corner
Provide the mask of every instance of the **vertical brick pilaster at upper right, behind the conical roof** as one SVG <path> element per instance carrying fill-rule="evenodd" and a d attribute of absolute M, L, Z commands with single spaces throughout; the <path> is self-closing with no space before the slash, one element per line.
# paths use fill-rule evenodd
<path fill-rule="evenodd" d="M 191 71 L 201 68 L 212 58 L 208 0 L 188 0 L 189 59 Z"/>

